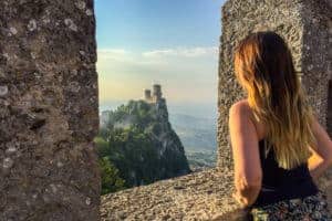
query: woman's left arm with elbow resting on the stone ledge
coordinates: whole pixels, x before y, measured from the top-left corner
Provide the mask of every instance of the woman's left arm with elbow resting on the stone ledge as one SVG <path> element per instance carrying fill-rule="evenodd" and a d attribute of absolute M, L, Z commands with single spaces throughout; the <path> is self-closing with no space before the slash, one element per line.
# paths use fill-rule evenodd
<path fill-rule="evenodd" d="M 262 170 L 258 135 L 245 102 L 229 109 L 229 134 L 234 156 L 235 187 L 243 206 L 252 204 L 260 191 Z"/>

